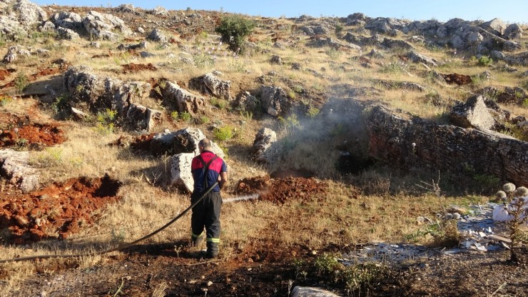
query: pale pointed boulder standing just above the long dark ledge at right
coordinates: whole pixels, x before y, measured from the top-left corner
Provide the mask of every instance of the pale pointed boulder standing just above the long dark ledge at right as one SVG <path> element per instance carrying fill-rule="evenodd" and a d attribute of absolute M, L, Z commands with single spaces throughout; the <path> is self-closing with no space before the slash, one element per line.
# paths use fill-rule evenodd
<path fill-rule="evenodd" d="M 450 121 L 462 128 L 477 128 L 489 130 L 495 124 L 489 113 L 482 95 L 472 96 L 465 104 L 453 106 Z"/>

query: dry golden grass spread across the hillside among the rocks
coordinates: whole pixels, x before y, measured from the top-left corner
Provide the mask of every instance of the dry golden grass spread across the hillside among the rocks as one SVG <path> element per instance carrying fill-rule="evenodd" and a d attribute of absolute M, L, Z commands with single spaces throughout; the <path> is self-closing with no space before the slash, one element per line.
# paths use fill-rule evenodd
<path fill-rule="evenodd" d="M 384 101 L 394 109 L 402 109 L 427 119 L 436 119 L 447 111 L 449 106 L 431 104 L 430 100 L 425 98 L 427 95 L 425 93 L 387 90 L 372 81 L 411 81 L 427 86 L 430 92 L 440 94 L 444 99 L 461 101 L 469 96 L 469 91 L 475 91 L 483 86 L 519 86 L 519 81 L 521 81 L 517 74 L 507 74 L 476 66 L 474 61 L 462 59 L 460 56 L 450 56 L 444 49 L 430 51 L 418 46 L 422 54 L 447 61 L 444 66 L 437 68 L 437 71 L 442 74 L 456 72 L 474 75 L 488 70 L 494 77 L 492 81 L 485 81 L 478 86 L 439 86 L 420 76 L 425 70 L 425 67 L 420 65 L 405 64 L 404 68 L 408 73 L 383 71 L 383 64 L 386 66 L 390 62 L 400 63 L 394 57 L 394 54 L 401 54 L 397 51 L 382 51 L 387 58 L 372 59 L 372 68 L 367 69 L 360 65 L 360 61 L 352 59 L 360 55 L 357 51 L 336 53 L 326 48 L 306 47 L 304 44 L 307 39 L 301 37 L 298 41 L 296 40 L 298 33 L 290 31 L 293 21 L 280 19 L 275 25 L 279 24 L 285 25 L 285 29 L 279 31 L 283 36 L 283 41 L 280 42 L 286 45 L 286 49 L 273 47 L 271 41 L 273 30 L 258 28 L 258 33 L 254 34 L 259 39 L 257 46 L 259 49 L 266 50 L 266 54 L 260 54 L 255 50 L 252 56 L 238 58 L 231 55 L 218 55 L 217 61 L 213 64 L 196 66 L 184 64 L 180 61 L 180 57 L 195 57 L 196 61 L 198 58 L 209 59 L 209 56 L 199 56 L 193 46 L 198 46 L 198 48 L 214 46 L 218 43 L 217 36 L 210 35 L 205 39 L 197 39 L 192 41 L 192 44 L 187 44 L 186 48 L 171 45 L 168 49 L 160 49 L 158 44 L 151 43 L 148 51 L 156 56 L 147 59 L 118 53 L 117 44 L 109 41 L 101 41 L 101 49 L 86 47 L 89 41 L 81 41 L 77 44 L 71 41 L 55 43 L 43 39 L 41 42 L 44 47 L 54 51 L 46 61 L 61 57 L 73 65 L 90 66 L 96 74 L 101 76 L 116 77 L 123 81 L 165 78 L 171 81 L 186 82 L 208 71 L 218 70 L 223 72 L 223 79 L 231 81 L 232 94 L 239 94 L 240 91 L 256 91 L 260 86 L 257 78 L 268 74 L 269 71 L 275 71 L 277 75 L 270 76 L 273 85 L 281 86 L 287 92 L 294 91 L 290 82 L 317 94 L 330 94 L 336 84 L 350 84 L 357 88 L 373 86 L 382 91 L 380 98 L 367 95 L 362 96 L 362 99 Z M 527 40 L 528 37 L 524 36 L 522 42 L 526 43 Z M 11 44 L 6 44 L 6 46 L 9 45 Z M 91 58 L 108 51 L 117 55 L 108 58 Z M 370 49 L 364 49 L 363 53 L 368 51 Z M 168 54 L 174 56 L 168 56 Z M 270 64 L 272 54 L 280 55 L 285 64 L 280 66 Z M 17 61 L 14 65 L 17 72 L 31 74 L 38 61 L 39 59 L 31 57 Z M 158 71 L 119 73 L 121 65 L 131 62 L 151 63 L 158 67 Z M 305 70 L 293 71 L 291 63 L 300 63 Z M 319 71 L 336 81 L 317 77 L 306 69 Z M 518 69 L 522 72 L 526 71 L 527 67 L 519 66 Z M 7 90 L 8 93 L 12 91 Z M 300 94 L 297 96 L 298 100 L 303 100 L 303 96 Z M 162 109 L 154 99 L 144 99 L 139 103 Z M 4 113 L 20 113 L 35 105 L 34 100 L 16 99 L 2 106 L 1 109 Z M 515 115 L 527 115 L 527 109 L 524 107 L 507 106 L 507 109 Z M 42 121 L 49 120 L 52 116 L 46 113 L 39 115 Z M 220 121 L 223 125 L 231 125 L 238 129 L 235 139 L 222 144 L 229 150 L 226 160 L 231 178 L 231 183 L 223 194 L 225 198 L 229 196 L 230 191 L 233 191 L 236 181 L 246 177 L 264 176 L 269 172 L 285 168 L 311 170 L 318 173 L 320 178 L 328 178 L 325 181 L 329 185 L 329 191 L 325 195 L 307 197 L 303 201 L 290 200 L 282 206 L 265 201 L 226 203 L 223 206 L 221 235 L 221 248 L 225 258 L 234 257 L 238 248 L 243 249 L 248 244 L 258 246 L 263 242 L 276 243 L 280 248 L 303 245 L 320 250 L 329 245 L 352 248 L 355 243 L 374 240 L 402 241 L 403 236 L 419 228 L 416 223 L 417 216 L 434 216 L 442 208 L 442 204 L 468 203 L 466 197 L 449 197 L 440 200 L 431 194 L 417 193 L 412 185 L 419 182 L 419 177 L 392 176 L 392 173 L 385 171 L 384 168 L 377 171 L 365 171 L 353 178 L 343 178 L 335 169 L 339 156 L 335 149 L 329 150 L 329 148 L 342 146 L 344 141 L 351 139 L 353 133 L 347 134 L 341 131 L 339 127 L 331 126 L 332 123 L 328 123 L 325 119 L 319 123 L 320 126 L 326 125 L 325 129 L 313 125 L 313 121 L 318 121 L 318 119 L 307 119 L 301 123 L 304 129 L 288 131 L 280 129 L 276 119 L 257 111 L 253 119 L 245 119 L 237 111 L 231 109 L 208 109 L 205 111 L 205 116 L 208 116 L 211 121 Z M 244 120 L 245 125 L 241 125 L 240 120 Z M 156 131 L 161 131 L 164 126 L 169 126 L 171 129 L 197 126 L 211 138 L 212 133 L 208 130 L 210 124 L 167 122 L 156 128 L 158 129 Z M 272 127 L 278 131 L 278 143 L 287 148 L 280 162 L 260 165 L 250 160 L 249 148 L 253 144 L 256 131 L 261 127 Z M 32 163 L 42 168 L 42 181 L 49 183 L 76 176 L 102 176 L 104 173 L 110 173 L 113 178 L 124 183 L 119 192 L 122 199 L 101 211 L 98 221 L 93 226 L 83 229 L 81 233 L 71 236 L 63 243 L 54 241 L 35 243 L 29 248 L 0 246 L 1 258 L 30 256 L 37 253 L 67 254 L 101 250 L 101 248 L 133 241 L 146 235 L 163 226 L 188 207 L 189 197 L 187 195 L 168 191 L 161 186 L 161 181 L 167 176 L 167 158 L 141 156 L 126 148 L 108 145 L 126 132 L 101 134 L 101 131 L 91 124 L 78 124 L 71 121 L 64 121 L 64 128 L 68 137 L 68 141 L 64 144 L 47 148 L 44 151 L 31 152 Z M 323 136 L 327 134 L 323 133 L 329 132 L 332 137 L 328 136 L 324 139 Z M 367 144 L 354 145 L 355 149 L 361 151 Z M 482 199 L 485 200 L 486 197 Z M 186 240 L 190 232 L 189 221 L 188 216 L 182 218 L 166 231 L 149 238 L 147 243 L 175 243 Z M 61 266 L 65 261 L 74 261 L 79 268 L 88 268 L 104 257 L 83 256 L 68 260 L 50 259 L 39 263 L 1 264 L 0 276 L 4 283 L 0 289 L 0 296 L 9 296 L 9 293 L 19 290 L 21 283 L 36 271 L 53 273 L 53 267 Z M 164 296 L 167 288 L 166 283 L 159 283 L 152 295 Z"/>

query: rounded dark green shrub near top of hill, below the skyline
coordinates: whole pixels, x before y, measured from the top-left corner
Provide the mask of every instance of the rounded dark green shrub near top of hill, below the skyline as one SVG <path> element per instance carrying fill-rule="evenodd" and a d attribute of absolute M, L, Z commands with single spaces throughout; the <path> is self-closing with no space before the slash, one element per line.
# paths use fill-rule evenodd
<path fill-rule="evenodd" d="M 255 29 L 255 22 L 243 16 L 225 16 L 215 31 L 222 36 L 222 40 L 229 44 L 232 51 L 243 51 L 245 38 Z"/>

